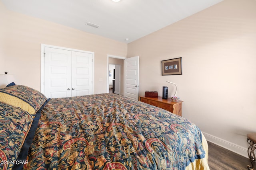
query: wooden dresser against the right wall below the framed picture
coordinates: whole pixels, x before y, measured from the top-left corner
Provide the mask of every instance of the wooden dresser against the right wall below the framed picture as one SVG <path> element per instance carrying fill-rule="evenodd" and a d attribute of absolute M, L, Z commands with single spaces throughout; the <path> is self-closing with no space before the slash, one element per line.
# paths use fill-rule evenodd
<path fill-rule="evenodd" d="M 162 97 L 158 96 L 158 98 L 148 98 L 145 96 L 140 96 L 140 101 L 151 104 L 153 106 L 160 107 L 162 109 L 168 110 L 176 115 L 182 116 L 182 102 L 179 100 L 178 102 L 172 102 L 169 98 L 162 99 Z"/>

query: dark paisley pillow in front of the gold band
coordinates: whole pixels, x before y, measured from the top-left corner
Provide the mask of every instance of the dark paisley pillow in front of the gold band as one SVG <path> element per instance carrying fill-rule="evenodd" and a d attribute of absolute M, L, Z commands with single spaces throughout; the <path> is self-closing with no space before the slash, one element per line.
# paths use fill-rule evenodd
<path fill-rule="evenodd" d="M 32 121 L 33 118 L 28 112 L 0 102 L 1 162 L 15 162 Z M 12 163 L 0 164 L 0 169 L 12 169 L 12 166 Z"/>

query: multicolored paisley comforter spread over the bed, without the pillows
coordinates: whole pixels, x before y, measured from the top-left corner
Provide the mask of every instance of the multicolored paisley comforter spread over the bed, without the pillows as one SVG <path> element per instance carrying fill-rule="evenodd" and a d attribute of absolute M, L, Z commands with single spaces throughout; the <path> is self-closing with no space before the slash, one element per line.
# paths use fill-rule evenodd
<path fill-rule="evenodd" d="M 209 169 L 204 140 L 190 121 L 116 94 L 56 98 L 41 111 L 24 169 Z"/>

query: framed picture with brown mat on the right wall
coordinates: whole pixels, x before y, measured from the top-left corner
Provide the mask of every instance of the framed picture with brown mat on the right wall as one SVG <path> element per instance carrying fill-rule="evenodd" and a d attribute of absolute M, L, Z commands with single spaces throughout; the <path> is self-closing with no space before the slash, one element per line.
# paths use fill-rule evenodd
<path fill-rule="evenodd" d="M 162 61 L 162 76 L 182 75 L 181 57 Z"/>

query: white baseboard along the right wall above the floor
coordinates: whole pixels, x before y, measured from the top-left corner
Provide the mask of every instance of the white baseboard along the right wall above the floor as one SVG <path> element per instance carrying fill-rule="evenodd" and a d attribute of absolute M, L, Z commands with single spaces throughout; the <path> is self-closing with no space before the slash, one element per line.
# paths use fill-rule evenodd
<path fill-rule="evenodd" d="M 207 141 L 248 158 L 248 153 L 247 153 L 248 148 L 241 147 L 239 145 L 236 145 L 224 139 L 220 139 L 208 133 L 204 133 L 204 132 L 202 133 L 204 134 L 204 137 L 206 138 Z"/>

